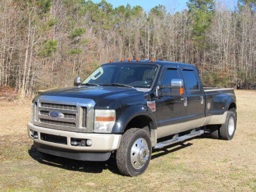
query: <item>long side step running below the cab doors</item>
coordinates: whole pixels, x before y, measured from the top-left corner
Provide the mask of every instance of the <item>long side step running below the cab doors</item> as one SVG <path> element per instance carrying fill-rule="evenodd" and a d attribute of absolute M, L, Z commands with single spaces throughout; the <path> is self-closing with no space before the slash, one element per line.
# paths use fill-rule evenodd
<path fill-rule="evenodd" d="M 159 143 L 156 143 L 156 146 L 154 147 L 154 149 L 161 149 L 165 146 L 169 146 L 169 145 L 172 145 L 173 143 L 177 143 L 177 142 L 180 142 L 180 141 L 184 141 L 186 139 L 190 139 L 190 138 L 193 138 L 193 137 L 196 137 L 196 136 L 199 136 L 201 134 L 203 134 L 204 131 L 203 130 L 199 130 L 199 131 L 193 131 L 189 134 L 186 134 L 186 135 L 183 135 L 181 137 L 173 137 L 172 139 L 170 140 L 167 140 L 167 141 L 163 141 L 163 142 L 159 142 Z"/>

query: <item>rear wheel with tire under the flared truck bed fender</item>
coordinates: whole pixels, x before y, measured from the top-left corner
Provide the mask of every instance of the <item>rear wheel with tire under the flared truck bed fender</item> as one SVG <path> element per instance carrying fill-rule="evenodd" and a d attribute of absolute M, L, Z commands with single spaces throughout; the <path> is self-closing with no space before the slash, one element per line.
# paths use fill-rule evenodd
<path fill-rule="evenodd" d="M 220 127 L 220 138 L 223 140 L 231 140 L 236 131 L 236 115 L 234 111 L 229 110 L 227 119 Z"/>

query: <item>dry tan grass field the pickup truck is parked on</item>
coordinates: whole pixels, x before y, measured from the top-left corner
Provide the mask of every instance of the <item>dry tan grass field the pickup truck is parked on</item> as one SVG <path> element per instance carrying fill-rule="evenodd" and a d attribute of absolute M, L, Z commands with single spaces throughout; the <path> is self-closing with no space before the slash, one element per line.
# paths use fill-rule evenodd
<path fill-rule="evenodd" d="M 256 191 L 256 91 L 236 91 L 231 141 L 209 135 L 153 151 L 139 177 L 118 173 L 113 159 L 44 159 L 26 124 L 30 101 L 0 102 L 0 191 Z"/>

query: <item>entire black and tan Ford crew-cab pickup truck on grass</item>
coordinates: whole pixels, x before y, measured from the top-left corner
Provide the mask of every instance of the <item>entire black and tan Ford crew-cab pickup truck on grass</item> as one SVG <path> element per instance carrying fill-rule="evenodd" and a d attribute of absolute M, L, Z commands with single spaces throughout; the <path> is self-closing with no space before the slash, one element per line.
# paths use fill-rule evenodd
<path fill-rule="evenodd" d="M 135 176 L 152 149 L 209 132 L 230 140 L 236 130 L 233 89 L 205 88 L 195 66 L 154 60 L 110 61 L 74 87 L 40 93 L 28 135 L 42 154 L 107 161 Z"/>

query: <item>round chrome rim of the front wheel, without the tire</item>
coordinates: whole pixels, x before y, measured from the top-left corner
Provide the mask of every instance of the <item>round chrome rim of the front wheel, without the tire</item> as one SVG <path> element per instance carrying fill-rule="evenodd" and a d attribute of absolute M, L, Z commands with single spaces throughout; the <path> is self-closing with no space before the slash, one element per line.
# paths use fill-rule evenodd
<path fill-rule="evenodd" d="M 148 161 L 149 150 L 147 141 L 143 138 L 137 139 L 131 149 L 131 163 L 135 169 L 140 169 Z"/>

